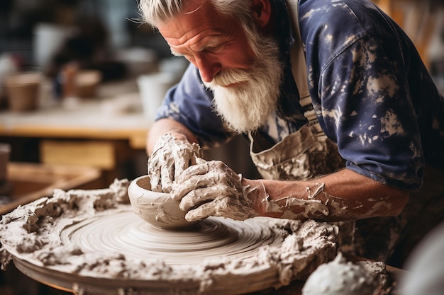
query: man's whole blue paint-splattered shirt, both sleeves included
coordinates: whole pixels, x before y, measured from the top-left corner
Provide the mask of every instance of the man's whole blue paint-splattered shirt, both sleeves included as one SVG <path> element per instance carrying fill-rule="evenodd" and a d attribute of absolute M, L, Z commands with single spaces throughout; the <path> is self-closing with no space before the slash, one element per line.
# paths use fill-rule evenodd
<path fill-rule="evenodd" d="M 270 1 L 287 68 L 280 107 L 260 132 L 277 143 L 306 119 L 291 71 L 287 6 Z M 406 190 L 418 190 L 424 163 L 444 170 L 444 99 L 394 21 L 371 1 L 300 0 L 299 28 L 313 108 L 347 168 Z M 211 100 L 190 65 L 157 118 L 182 122 L 202 146 L 214 146 L 233 134 L 212 111 Z"/>

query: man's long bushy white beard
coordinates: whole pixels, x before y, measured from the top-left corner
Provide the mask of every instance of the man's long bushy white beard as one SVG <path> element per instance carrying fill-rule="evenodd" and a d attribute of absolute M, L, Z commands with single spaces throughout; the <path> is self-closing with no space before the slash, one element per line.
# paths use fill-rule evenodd
<path fill-rule="evenodd" d="M 264 42 L 269 44 L 264 46 Z M 264 125 L 276 110 L 279 98 L 283 68 L 278 45 L 274 40 L 264 40 L 263 36 L 259 44 L 262 46 L 258 50 L 253 49 L 257 56 L 251 69 L 222 70 L 213 81 L 204 83 L 213 91 L 218 115 L 239 134 Z M 235 83 L 238 84 L 226 87 Z"/>

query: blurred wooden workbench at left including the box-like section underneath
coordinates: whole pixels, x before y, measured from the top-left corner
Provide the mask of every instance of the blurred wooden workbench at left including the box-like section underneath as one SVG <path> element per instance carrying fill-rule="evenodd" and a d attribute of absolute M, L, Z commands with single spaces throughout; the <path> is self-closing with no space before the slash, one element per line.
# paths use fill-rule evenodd
<path fill-rule="evenodd" d="M 114 178 L 136 176 L 121 171 L 146 154 L 150 120 L 143 114 L 137 85 L 113 82 L 97 93 L 74 105 L 52 103 L 31 112 L 0 110 L 0 142 L 11 143 L 12 161 L 99 168 L 104 187 Z M 31 140 L 35 146 L 28 148 Z"/>

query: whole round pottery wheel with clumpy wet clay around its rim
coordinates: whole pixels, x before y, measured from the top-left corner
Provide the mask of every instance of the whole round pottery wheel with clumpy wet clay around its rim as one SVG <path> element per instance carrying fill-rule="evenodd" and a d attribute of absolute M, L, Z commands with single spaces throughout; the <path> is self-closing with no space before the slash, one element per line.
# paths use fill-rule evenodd
<path fill-rule="evenodd" d="M 305 279 L 333 260 L 338 229 L 315 221 L 211 217 L 165 230 L 140 219 L 128 181 L 55 190 L 0 224 L 2 265 L 78 294 L 245 294 Z"/>

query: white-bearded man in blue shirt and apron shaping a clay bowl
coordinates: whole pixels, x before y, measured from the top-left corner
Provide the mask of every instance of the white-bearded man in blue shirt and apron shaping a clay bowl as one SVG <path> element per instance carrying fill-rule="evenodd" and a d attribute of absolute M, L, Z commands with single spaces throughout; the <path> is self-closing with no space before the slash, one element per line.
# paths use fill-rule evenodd
<path fill-rule="evenodd" d="M 153 190 L 187 219 L 341 221 L 343 250 L 399 252 L 398 264 L 442 219 L 444 100 L 370 1 L 143 0 L 140 11 L 191 62 L 148 137 Z M 266 179 L 203 161 L 192 144 L 235 133 Z"/>

